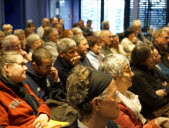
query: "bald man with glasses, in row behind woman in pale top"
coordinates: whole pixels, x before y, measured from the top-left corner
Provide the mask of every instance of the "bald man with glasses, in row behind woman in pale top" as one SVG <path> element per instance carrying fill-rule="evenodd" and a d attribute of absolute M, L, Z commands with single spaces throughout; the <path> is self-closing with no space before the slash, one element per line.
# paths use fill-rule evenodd
<path fill-rule="evenodd" d="M 111 46 L 111 43 L 113 41 L 112 33 L 108 30 L 102 30 L 99 37 L 102 40 L 102 42 L 101 42 L 101 46 L 102 46 L 101 53 L 104 54 L 105 56 L 111 54 L 109 47 Z"/>

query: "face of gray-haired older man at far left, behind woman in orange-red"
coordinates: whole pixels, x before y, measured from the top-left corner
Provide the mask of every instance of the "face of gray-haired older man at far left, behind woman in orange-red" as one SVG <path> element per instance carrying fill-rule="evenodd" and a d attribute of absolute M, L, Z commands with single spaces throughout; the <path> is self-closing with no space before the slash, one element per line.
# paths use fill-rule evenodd
<path fill-rule="evenodd" d="M 7 47 L 7 50 L 19 51 L 21 49 L 21 42 L 18 38 L 11 39 L 11 46 Z"/>

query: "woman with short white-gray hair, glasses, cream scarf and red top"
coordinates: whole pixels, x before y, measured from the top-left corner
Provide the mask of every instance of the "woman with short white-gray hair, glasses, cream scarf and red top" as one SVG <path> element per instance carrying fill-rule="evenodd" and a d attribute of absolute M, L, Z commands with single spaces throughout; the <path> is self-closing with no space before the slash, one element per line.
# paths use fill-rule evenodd
<path fill-rule="evenodd" d="M 100 64 L 99 70 L 107 72 L 115 78 L 117 90 L 121 99 L 120 115 L 115 122 L 122 128 L 155 128 L 155 120 L 145 124 L 146 119 L 141 115 L 141 104 L 138 96 L 128 91 L 132 85 L 134 73 L 131 71 L 129 60 L 120 54 L 106 56 Z"/>

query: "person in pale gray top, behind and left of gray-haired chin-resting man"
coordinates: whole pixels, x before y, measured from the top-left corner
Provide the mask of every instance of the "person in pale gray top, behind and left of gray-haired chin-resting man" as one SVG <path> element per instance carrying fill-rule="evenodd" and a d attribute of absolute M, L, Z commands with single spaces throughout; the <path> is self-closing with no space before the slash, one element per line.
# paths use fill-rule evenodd
<path fill-rule="evenodd" d="M 46 42 L 44 47 L 51 52 L 54 62 L 58 56 L 56 43 L 59 39 L 59 34 L 57 29 L 49 28 L 48 30 L 46 30 L 44 37 Z"/>

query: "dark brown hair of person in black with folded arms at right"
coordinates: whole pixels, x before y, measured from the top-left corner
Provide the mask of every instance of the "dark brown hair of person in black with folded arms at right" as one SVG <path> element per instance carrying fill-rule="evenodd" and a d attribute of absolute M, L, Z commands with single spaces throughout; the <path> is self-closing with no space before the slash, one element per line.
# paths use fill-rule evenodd
<path fill-rule="evenodd" d="M 137 45 L 131 53 L 131 62 L 134 65 L 143 64 L 151 55 L 151 47 L 148 45 Z"/>

